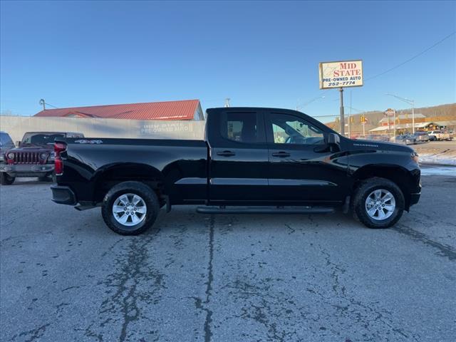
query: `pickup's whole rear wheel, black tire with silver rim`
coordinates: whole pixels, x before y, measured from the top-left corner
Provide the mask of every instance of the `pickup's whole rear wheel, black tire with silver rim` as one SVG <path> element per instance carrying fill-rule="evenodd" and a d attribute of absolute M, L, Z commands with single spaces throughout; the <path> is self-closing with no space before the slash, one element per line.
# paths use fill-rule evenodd
<path fill-rule="evenodd" d="M 122 235 L 138 235 L 157 219 L 160 203 L 142 182 L 122 182 L 105 195 L 101 214 L 105 224 Z"/>

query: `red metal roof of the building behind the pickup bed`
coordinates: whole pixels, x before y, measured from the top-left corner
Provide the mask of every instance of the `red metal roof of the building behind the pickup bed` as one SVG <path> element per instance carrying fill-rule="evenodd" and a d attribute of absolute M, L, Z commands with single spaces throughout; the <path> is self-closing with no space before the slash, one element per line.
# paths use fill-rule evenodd
<path fill-rule="evenodd" d="M 199 100 L 46 109 L 41 110 L 35 116 L 129 120 L 204 120 Z"/>

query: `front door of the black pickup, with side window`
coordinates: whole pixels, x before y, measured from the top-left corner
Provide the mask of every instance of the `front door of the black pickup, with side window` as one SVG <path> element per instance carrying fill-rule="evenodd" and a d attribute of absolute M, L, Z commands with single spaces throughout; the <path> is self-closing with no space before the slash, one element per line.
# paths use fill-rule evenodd
<path fill-rule="evenodd" d="M 266 114 L 270 196 L 289 204 L 338 204 L 346 195 L 347 165 L 325 149 L 324 129 L 304 116 Z M 346 161 L 346 157 L 343 157 Z M 284 203 L 285 204 L 285 203 Z"/>

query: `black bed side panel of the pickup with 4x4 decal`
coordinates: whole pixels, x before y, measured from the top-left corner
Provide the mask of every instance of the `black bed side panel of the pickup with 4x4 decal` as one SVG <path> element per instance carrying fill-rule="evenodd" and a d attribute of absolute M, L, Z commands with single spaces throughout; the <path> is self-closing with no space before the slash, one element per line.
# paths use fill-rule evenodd
<path fill-rule="evenodd" d="M 56 142 L 67 144 L 58 183 L 79 187 L 80 202 L 100 201 L 97 192 L 110 176 L 160 180 L 176 203 L 188 192 L 197 191 L 202 201 L 207 195 L 201 191 L 207 183 L 208 147 L 203 140 L 61 138 Z"/>

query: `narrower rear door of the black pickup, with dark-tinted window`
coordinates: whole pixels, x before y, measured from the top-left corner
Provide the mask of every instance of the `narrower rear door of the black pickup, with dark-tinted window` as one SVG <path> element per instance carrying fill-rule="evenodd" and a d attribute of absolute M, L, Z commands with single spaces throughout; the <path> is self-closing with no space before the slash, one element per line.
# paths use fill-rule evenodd
<path fill-rule="evenodd" d="M 259 110 L 222 110 L 210 117 L 209 201 L 257 204 L 268 191 L 268 150 L 264 114 Z"/>

